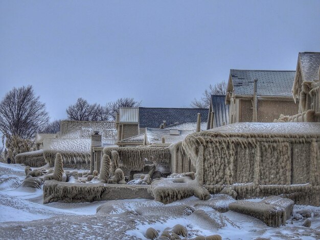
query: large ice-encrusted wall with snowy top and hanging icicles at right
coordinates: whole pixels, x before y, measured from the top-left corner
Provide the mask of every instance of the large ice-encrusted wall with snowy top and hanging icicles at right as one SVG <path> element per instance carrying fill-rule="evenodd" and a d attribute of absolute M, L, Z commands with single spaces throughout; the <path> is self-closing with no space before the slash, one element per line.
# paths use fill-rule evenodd
<path fill-rule="evenodd" d="M 201 184 L 320 185 L 320 123 L 238 123 L 183 142 Z"/>

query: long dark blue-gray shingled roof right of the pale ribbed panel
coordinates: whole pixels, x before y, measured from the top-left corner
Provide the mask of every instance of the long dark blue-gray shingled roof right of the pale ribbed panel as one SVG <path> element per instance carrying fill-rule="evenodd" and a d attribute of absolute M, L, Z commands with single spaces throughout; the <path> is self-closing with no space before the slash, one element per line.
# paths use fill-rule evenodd
<path fill-rule="evenodd" d="M 163 121 L 166 125 L 195 123 L 198 113 L 201 121 L 207 121 L 208 108 L 139 108 L 140 128 L 159 128 Z"/>

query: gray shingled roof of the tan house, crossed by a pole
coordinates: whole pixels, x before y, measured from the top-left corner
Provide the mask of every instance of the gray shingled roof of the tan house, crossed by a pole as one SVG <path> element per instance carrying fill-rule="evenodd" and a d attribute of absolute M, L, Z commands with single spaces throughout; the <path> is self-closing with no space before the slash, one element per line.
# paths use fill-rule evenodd
<path fill-rule="evenodd" d="M 257 94 L 292 97 L 295 71 L 230 69 L 236 95 L 253 95 L 254 79 L 258 79 Z"/>

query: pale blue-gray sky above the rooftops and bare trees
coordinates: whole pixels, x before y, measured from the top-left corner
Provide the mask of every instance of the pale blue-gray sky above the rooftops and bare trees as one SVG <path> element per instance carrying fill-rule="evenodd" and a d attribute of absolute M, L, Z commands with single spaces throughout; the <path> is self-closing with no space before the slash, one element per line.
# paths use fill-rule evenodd
<path fill-rule="evenodd" d="M 54 119 L 79 97 L 190 107 L 230 68 L 320 52 L 320 1 L 0 1 L 0 98 L 31 84 Z"/>

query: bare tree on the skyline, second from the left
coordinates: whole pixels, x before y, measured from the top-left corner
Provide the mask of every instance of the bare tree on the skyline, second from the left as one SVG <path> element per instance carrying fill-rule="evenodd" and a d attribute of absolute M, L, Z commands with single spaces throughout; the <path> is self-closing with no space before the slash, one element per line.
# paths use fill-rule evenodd
<path fill-rule="evenodd" d="M 107 121 L 109 108 L 99 104 L 89 104 L 86 100 L 79 98 L 74 105 L 66 109 L 68 119 L 76 121 Z"/>

